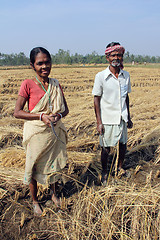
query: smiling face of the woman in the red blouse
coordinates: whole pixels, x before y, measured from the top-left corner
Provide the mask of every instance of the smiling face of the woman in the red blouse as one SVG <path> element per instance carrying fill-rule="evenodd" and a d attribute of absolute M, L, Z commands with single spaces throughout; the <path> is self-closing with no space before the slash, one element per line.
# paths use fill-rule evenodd
<path fill-rule="evenodd" d="M 45 53 L 38 53 L 32 68 L 41 78 L 48 78 L 51 71 L 51 61 Z"/>

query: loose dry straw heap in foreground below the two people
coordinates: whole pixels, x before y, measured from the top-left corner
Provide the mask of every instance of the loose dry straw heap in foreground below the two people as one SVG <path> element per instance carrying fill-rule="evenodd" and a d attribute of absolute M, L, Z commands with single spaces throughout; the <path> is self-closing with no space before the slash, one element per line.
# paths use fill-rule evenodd
<path fill-rule="evenodd" d="M 33 216 L 28 192 L 5 193 L 0 231 L 8 239 L 159 239 L 159 185 L 141 189 L 118 181 L 107 187 L 83 187 L 62 199 L 57 211 L 42 199 L 43 216 Z M 10 221 L 7 223 L 7 219 Z M 16 236 L 16 238 L 14 238 Z"/>

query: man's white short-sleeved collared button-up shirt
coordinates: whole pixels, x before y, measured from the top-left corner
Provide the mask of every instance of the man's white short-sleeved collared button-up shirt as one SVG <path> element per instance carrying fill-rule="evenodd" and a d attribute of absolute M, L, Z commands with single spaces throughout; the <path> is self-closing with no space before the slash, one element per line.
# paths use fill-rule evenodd
<path fill-rule="evenodd" d="M 101 96 L 100 110 L 103 124 L 120 124 L 121 118 L 128 121 L 126 96 L 131 92 L 130 75 L 120 70 L 118 78 L 109 67 L 95 76 L 92 90 L 94 96 Z"/>

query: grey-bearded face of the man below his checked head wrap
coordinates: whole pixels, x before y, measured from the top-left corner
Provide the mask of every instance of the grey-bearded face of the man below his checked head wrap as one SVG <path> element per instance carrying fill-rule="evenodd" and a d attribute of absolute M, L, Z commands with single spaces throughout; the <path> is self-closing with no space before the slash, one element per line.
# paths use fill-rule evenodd
<path fill-rule="evenodd" d="M 123 62 L 123 54 L 118 51 L 114 51 L 107 55 L 106 59 L 112 67 L 120 67 Z"/>

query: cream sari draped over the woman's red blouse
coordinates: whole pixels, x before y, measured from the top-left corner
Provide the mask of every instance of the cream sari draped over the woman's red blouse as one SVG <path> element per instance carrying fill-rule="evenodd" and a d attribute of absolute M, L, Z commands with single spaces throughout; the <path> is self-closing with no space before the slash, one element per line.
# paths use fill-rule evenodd
<path fill-rule="evenodd" d="M 52 104 L 52 112 L 49 108 Z M 48 91 L 40 99 L 31 113 L 54 114 L 64 112 L 63 94 L 56 79 L 49 79 Z M 67 131 L 61 120 L 54 127 L 57 136 L 67 143 Z M 31 178 L 41 184 L 51 184 L 61 178 L 60 171 L 65 167 L 67 154 L 66 144 L 57 139 L 52 129 L 43 121 L 26 121 L 23 131 L 23 145 L 26 150 L 26 166 L 24 183 L 29 184 Z"/>

